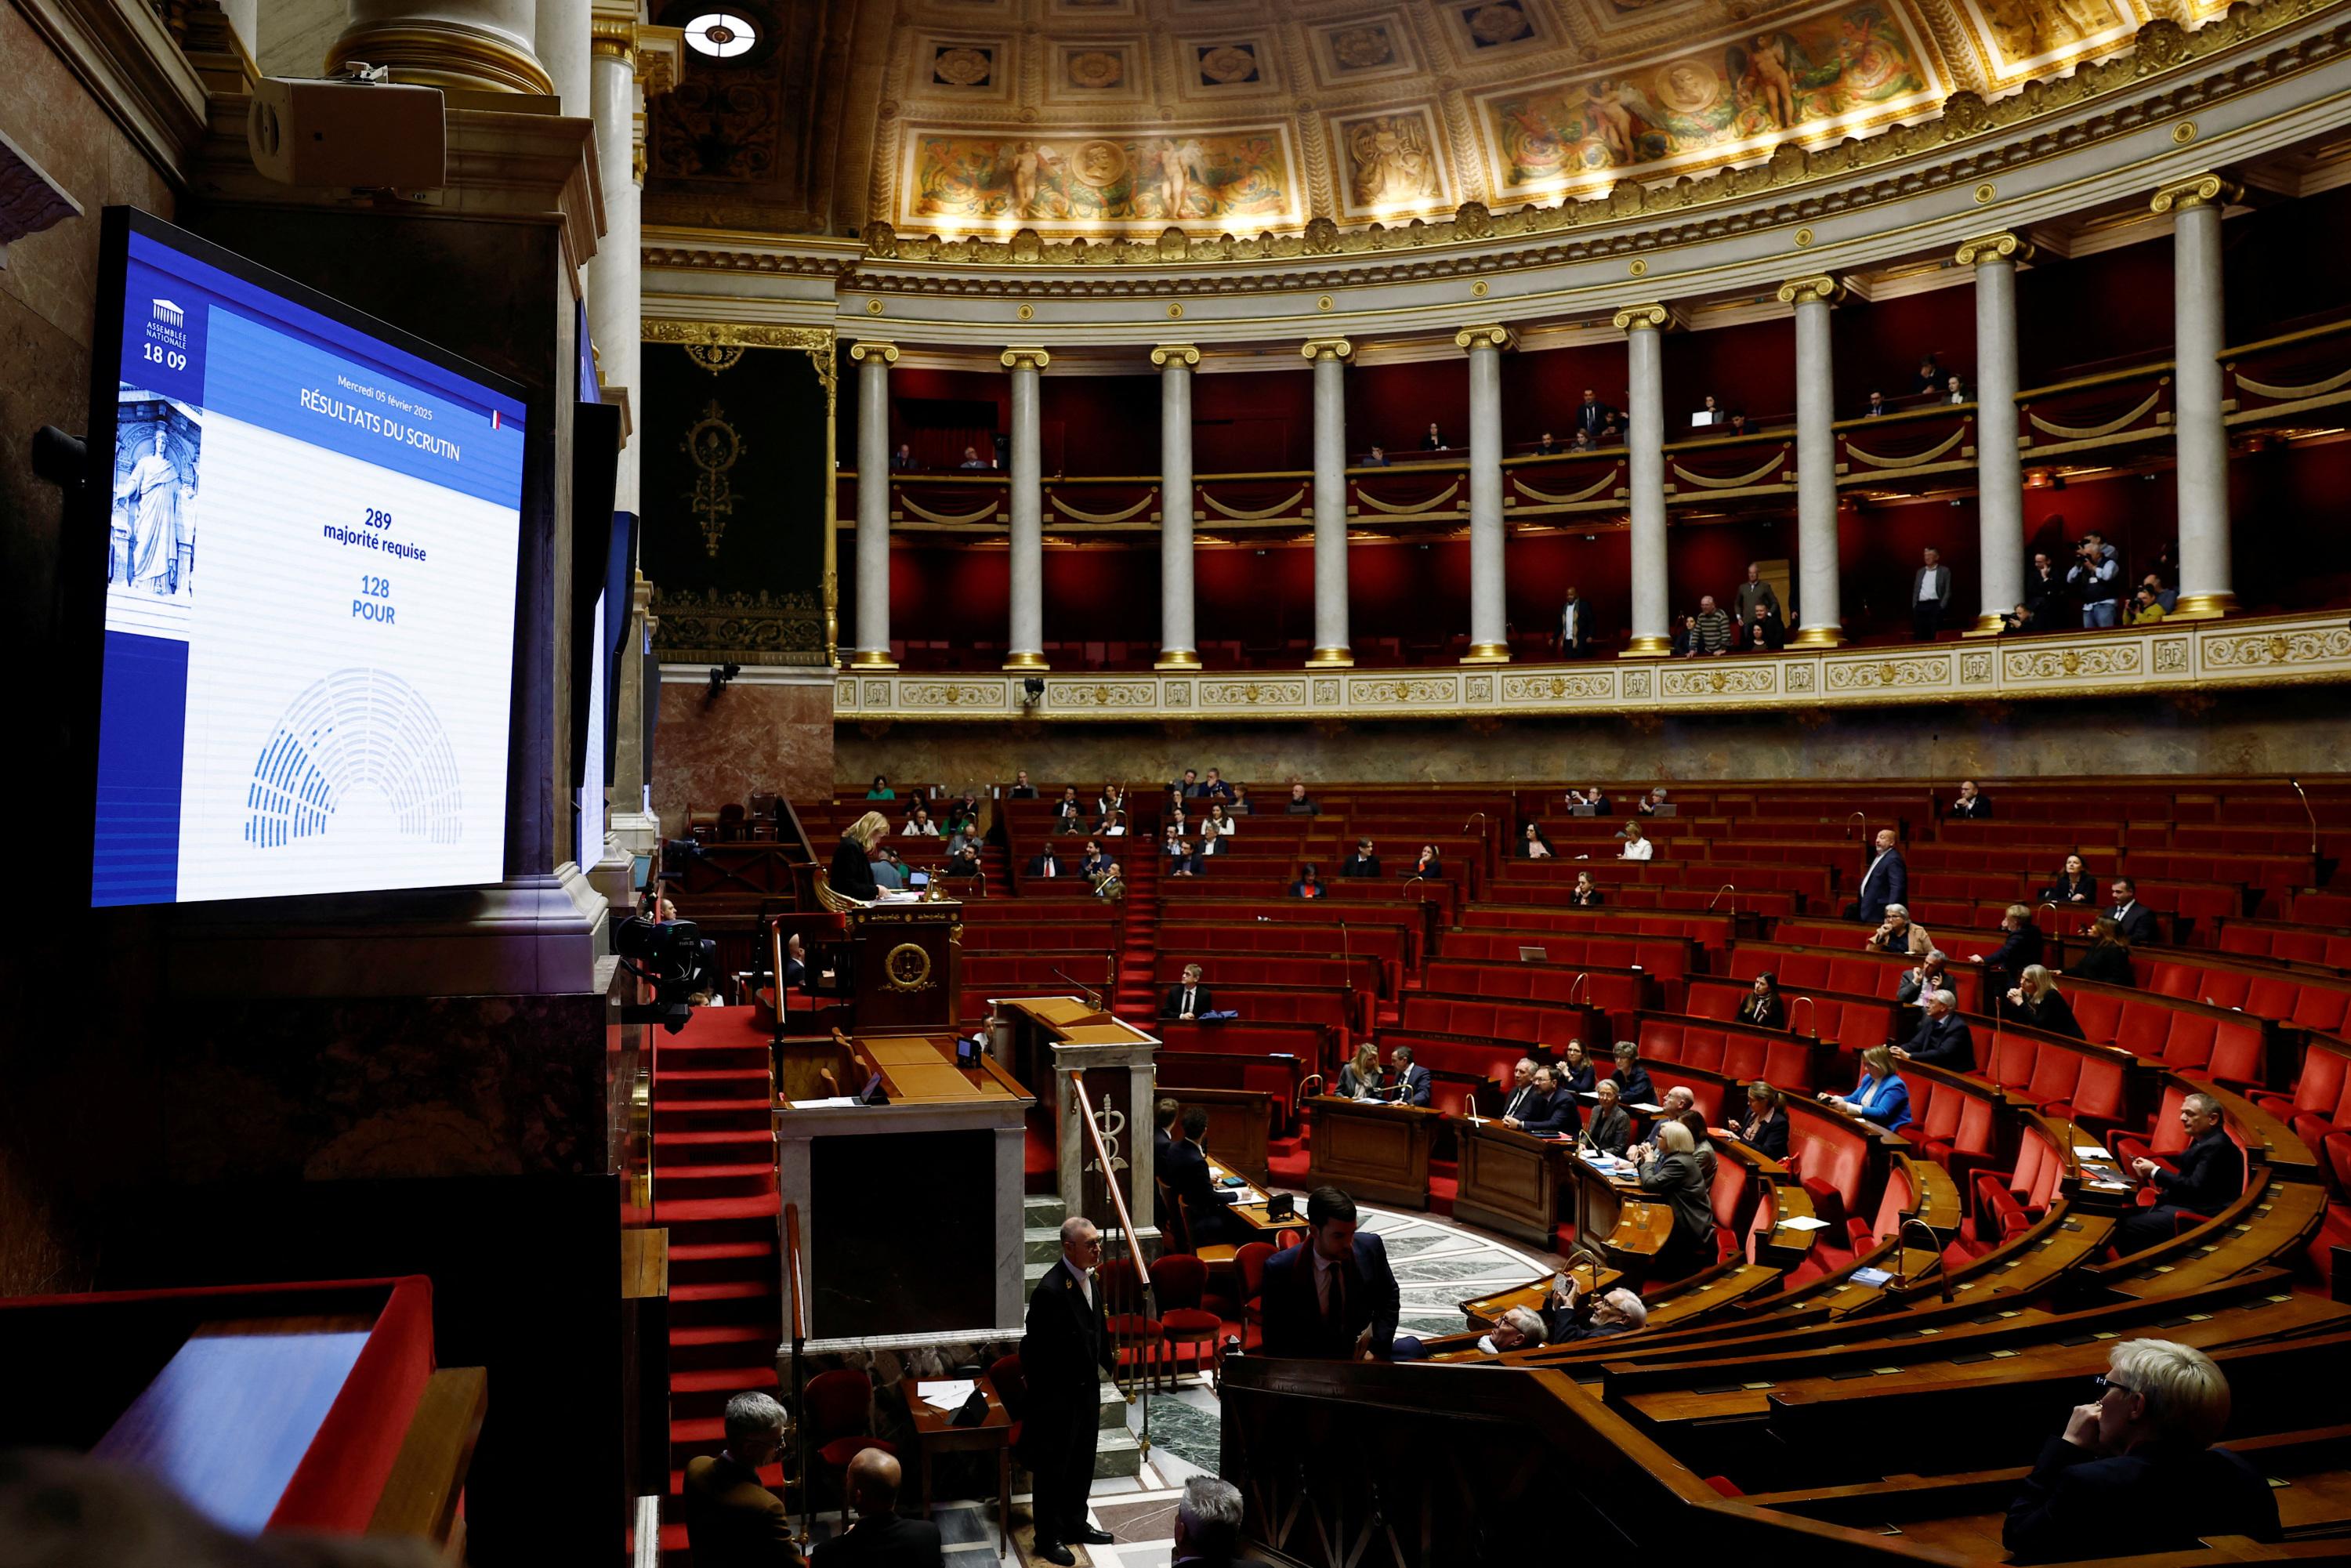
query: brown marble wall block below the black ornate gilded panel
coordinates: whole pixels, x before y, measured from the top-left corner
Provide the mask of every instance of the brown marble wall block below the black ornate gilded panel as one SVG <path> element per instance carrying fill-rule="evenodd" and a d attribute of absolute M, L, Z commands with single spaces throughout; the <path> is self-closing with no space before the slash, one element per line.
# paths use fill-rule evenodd
<path fill-rule="evenodd" d="M 663 682 L 654 726 L 654 811 L 684 830 L 686 806 L 715 811 L 755 792 L 813 799 L 832 788 L 832 679 Z"/>

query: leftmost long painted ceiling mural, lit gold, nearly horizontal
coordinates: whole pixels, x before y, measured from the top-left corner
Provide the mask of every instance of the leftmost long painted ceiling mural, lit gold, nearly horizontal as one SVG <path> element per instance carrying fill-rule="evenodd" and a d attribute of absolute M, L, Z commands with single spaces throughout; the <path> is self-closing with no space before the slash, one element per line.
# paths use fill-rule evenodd
<path fill-rule="evenodd" d="M 1288 150 L 1279 132 L 1168 136 L 969 136 L 917 132 L 915 219 L 985 223 L 1284 223 Z"/>

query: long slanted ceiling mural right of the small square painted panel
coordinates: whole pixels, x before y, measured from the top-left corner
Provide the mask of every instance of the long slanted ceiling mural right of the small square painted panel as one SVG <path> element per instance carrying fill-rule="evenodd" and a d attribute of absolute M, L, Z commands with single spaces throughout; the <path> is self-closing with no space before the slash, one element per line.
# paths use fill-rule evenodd
<path fill-rule="evenodd" d="M 1502 183 L 1528 188 L 1723 153 L 1925 92 L 1909 33 L 1867 2 L 1622 75 L 1495 94 L 1483 108 Z"/>

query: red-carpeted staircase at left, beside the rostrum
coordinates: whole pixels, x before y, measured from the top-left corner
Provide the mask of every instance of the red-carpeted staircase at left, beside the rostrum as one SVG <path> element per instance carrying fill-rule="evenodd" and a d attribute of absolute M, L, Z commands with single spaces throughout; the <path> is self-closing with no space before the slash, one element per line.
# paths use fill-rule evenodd
<path fill-rule="evenodd" d="M 670 1497 L 726 1441 L 726 1399 L 776 1387 L 776 1131 L 755 1011 L 701 1009 L 654 1046 L 654 1222 L 670 1232 Z M 781 1469 L 762 1472 L 769 1486 Z M 665 1554 L 686 1544 L 677 1509 Z"/>

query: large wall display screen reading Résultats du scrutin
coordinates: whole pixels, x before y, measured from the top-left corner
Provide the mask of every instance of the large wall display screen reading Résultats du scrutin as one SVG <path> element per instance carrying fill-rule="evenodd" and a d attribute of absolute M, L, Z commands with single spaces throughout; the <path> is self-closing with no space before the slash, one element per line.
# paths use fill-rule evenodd
<path fill-rule="evenodd" d="M 496 882 L 520 393 L 169 223 L 108 216 L 92 903 Z"/>

